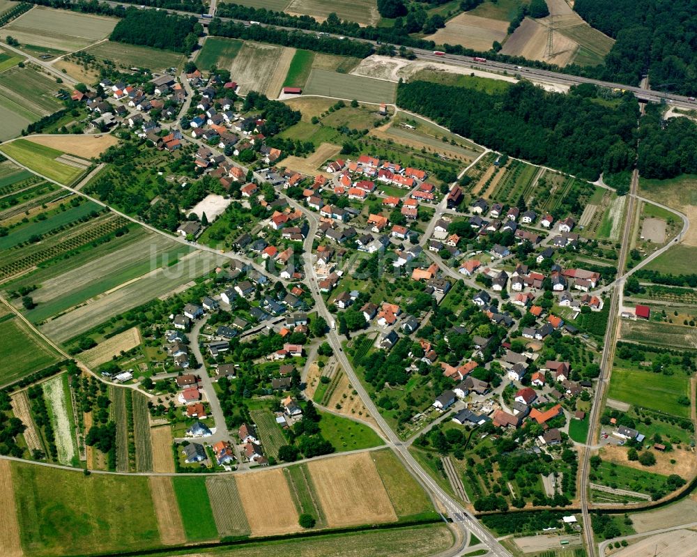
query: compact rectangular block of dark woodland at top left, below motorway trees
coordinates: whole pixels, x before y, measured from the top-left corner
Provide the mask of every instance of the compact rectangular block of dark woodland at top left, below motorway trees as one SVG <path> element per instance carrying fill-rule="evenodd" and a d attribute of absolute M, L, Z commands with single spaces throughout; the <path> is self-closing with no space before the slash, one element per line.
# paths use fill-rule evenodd
<path fill-rule="evenodd" d="M 195 17 L 128 8 L 125 17 L 116 24 L 109 38 L 119 43 L 167 48 L 190 54 L 202 31 L 203 27 Z"/>

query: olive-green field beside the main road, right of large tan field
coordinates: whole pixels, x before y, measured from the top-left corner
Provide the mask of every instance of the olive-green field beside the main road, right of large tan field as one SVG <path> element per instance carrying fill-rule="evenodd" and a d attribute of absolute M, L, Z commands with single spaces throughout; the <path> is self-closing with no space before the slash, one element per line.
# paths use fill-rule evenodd
<path fill-rule="evenodd" d="M 372 453 L 372 458 L 399 519 L 414 519 L 424 514 L 437 516 L 426 491 L 392 450 L 378 450 Z"/>

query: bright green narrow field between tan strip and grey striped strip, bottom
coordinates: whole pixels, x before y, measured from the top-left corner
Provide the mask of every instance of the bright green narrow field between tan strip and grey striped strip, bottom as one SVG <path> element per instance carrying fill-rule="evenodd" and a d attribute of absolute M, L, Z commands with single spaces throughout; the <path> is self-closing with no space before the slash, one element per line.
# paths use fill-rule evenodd
<path fill-rule="evenodd" d="M 172 478 L 187 540 L 198 542 L 218 537 L 208 501 L 206 478 Z"/>

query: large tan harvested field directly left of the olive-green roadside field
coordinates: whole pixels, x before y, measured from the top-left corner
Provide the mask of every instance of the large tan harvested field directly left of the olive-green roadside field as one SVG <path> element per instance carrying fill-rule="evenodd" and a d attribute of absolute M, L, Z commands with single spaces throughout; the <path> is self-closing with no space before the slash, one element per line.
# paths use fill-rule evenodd
<path fill-rule="evenodd" d="M 368 452 L 307 464 L 330 527 L 397 520 Z"/>

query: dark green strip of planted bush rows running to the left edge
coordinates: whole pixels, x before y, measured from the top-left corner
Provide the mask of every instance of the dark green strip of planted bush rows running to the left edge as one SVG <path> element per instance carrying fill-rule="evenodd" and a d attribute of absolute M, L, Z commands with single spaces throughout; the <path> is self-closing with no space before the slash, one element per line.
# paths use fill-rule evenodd
<path fill-rule="evenodd" d="M 26 249 L 13 250 L 11 255 L 19 255 L 17 259 L 0 266 L 0 279 L 5 279 L 21 273 L 23 270 L 36 266 L 43 261 L 53 259 L 59 255 L 75 250 L 78 247 L 89 244 L 102 236 L 107 236 L 113 231 L 125 226 L 128 220 L 117 217 L 116 215 L 106 215 L 102 218 L 96 218 L 90 222 L 86 222 L 75 229 L 66 232 L 66 235 L 57 234 L 49 238 L 46 242 L 32 245 L 28 249 L 33 248 L 34 251 L 26 254 Z M 51 243 L 52 245 L 47 245 Z M 6 260 L 9 252 L 3 254 L 3 259 Z"/>

